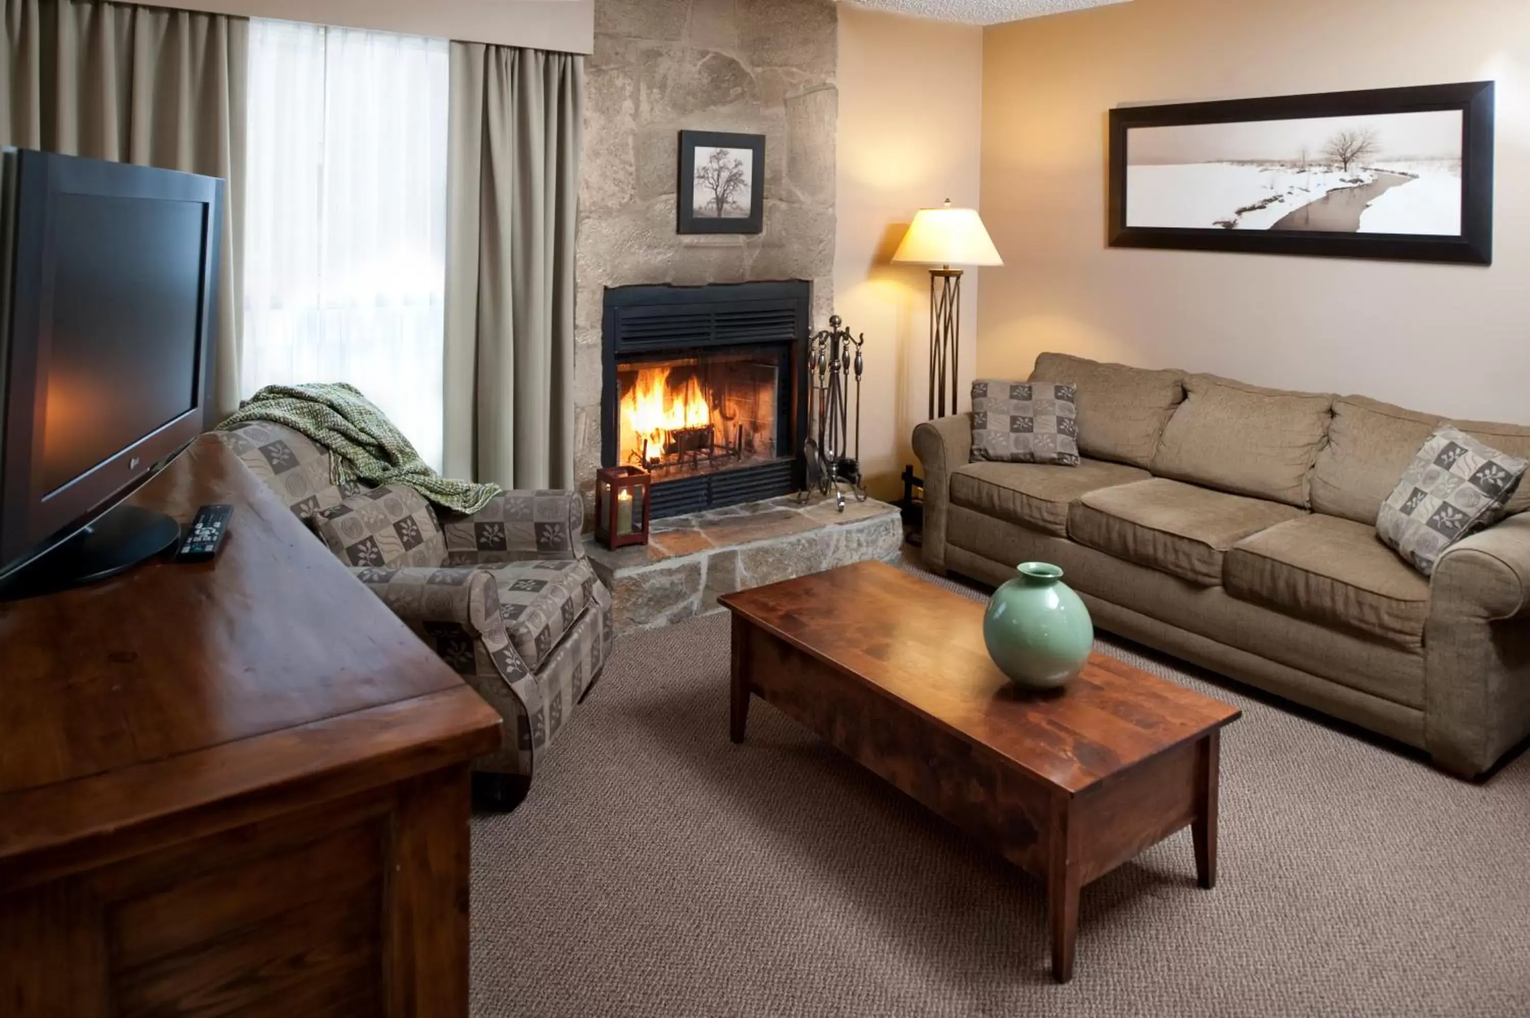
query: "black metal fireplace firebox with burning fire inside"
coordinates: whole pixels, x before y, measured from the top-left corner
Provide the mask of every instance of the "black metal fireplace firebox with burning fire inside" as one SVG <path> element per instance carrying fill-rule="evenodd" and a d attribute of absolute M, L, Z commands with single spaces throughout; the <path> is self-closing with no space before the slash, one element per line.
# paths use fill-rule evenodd
<path fill-rule="evenodd" d="M 601 459 L 653 475 L 653 517 L 802 487 L 812 286 L 606 289 Z"/>

